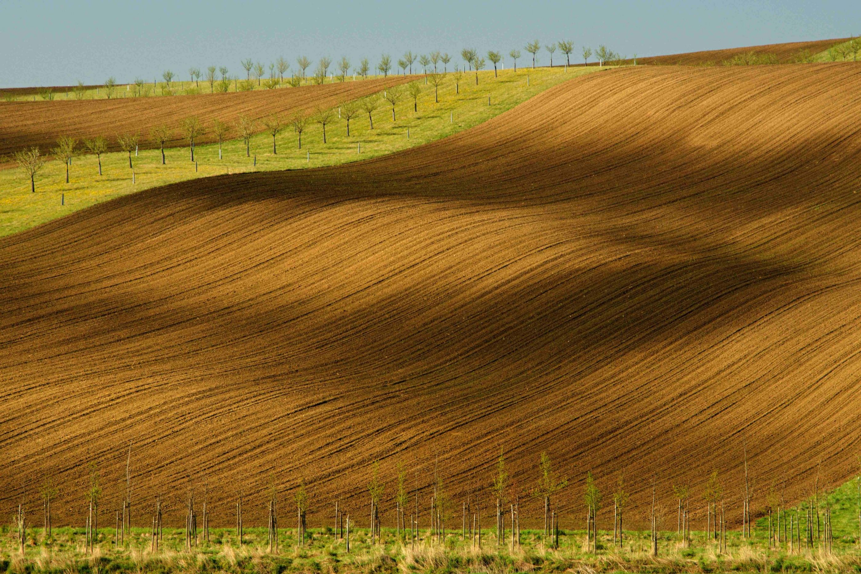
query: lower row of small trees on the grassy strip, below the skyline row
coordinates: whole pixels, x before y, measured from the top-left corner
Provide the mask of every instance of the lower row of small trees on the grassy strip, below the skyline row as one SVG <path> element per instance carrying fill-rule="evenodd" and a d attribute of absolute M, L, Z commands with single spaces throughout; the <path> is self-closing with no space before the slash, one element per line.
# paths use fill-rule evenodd
<path fill-rule="evenodd" d="M 476 62 L 476 70 L 480 63 Z M 439 87 L 449 76 L 447 72 L 433 72 L 424 78 L 424 83 L 433 86 L 434 101 L 439 102 Z M 455 84 L 455 94 L 460 93 L 460 83 L 463 79 L 462 71 L 450 74 Z M 478 76 L 476 75 L 476 83 Z M 190 116 L 180 121 L 176 127 L 161 124 L 152 128 L 146 143 L 158 148 L 161 152 L 161 163 L 166 164 L 165 147 L 177 139 L 183 139 L 189 145 L 189 160 L 195 162 L 195 142 L 202 136 L 209 134 L 218 142 L 219 159 L 222 159 L 223 144 L 234 135 L 242 139 L 245 145 L 245 156 L 251 157 L 251 138 L 257 133 L 267 133 L 272 136 L 272 153 L 278 153 L 277 136 L 285 129 L 292 129 L 297 136 L 298 149 L 302 149 L 302 133 L 307 130 L 309 124 L 318 124 L 322 130 L 323 143 L 326 143 L 326 126 L 340 120 L 344 122 L 346 137 L 350 137 L 350 121 L 367 114 L 369 129 L 374 129 L 374 114 L 383 106 L 391 107 L 392 121 L 397 120 L 397 105 L 405 100 L 412 100 L 414 112 L 418 112 L 418 97 L 423 93 L 422 83 L 413 81 L 406 86 L 393 86 L 386 89 L 381 95 L 366 96 L 359 100 L 348 100 L 339 103 L 335 108 L 317 107 L 313 110 L 299 110 L 289 117 L 282 114 L 270 114 L 269 116 L 254 119 L 247 115 L 240 115 L 235 123 L 227 123 L 214 119 L 206 126 L 196 116 Z M 128 168 L 134 169 L 133 157 L 138 156 L 139 145 L 145 140 L 138 133 L 126 133 L 117 135 L 115 145 L 121 151 L 128 154 Z M 96 156 L 99 176 L 102 176 L 102 155 L 108 152 L 111 142 L 103 136 L 92 139 L 84 139 L 78 142 L 70 136 L 60 136 L 57 145 L 50 154 L 65 164 L 65 182 L 69 182 L 71 163 L 74 157 L 81 153 L 90 153 Z M 30 190 L 35 193 L 35 176 L 45 165 L 45 157 L 41 154 L 38 146 L 22 151 L 15 151 L 12 159 L 30 180 Z"/>

